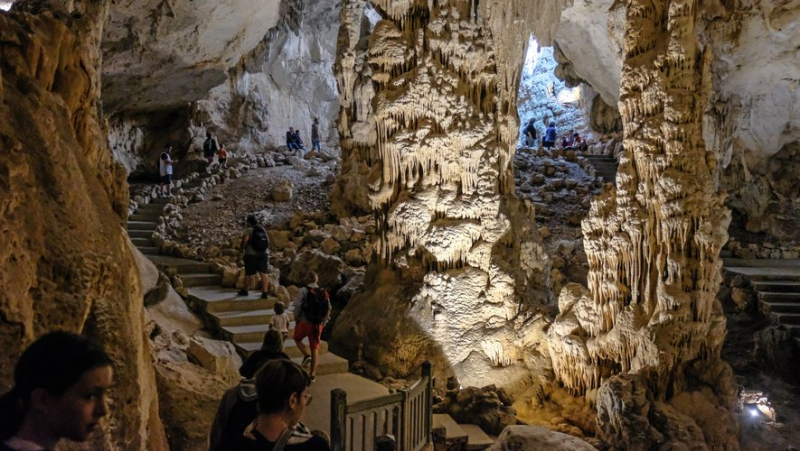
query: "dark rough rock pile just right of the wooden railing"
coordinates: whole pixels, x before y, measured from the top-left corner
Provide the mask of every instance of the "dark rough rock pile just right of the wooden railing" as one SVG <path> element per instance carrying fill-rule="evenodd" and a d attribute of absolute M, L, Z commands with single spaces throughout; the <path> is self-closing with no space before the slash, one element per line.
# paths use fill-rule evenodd
<path fill-rule="evenodd" d="M 448 387 L 453 387 L 448 383 Z M 434 399 L 433 412 L 449 414 L 459 424 L 475 424 L 489 435 L 500 435 L 508 426 L 521 424 L 513 401 L 502 388 L 466 387 L 449 390 Z"/>

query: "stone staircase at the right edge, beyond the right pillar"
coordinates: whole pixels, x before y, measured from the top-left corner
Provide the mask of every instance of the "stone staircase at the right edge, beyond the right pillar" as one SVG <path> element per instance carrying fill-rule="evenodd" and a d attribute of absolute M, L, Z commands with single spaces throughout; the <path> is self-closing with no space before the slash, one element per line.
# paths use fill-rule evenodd
<path fill-rule="evenodd" d="M 758 309 L 788 330 L 800 347 L 800 260 L 725 258 L 725 270 L 742 275 L 756 294 Z"/>

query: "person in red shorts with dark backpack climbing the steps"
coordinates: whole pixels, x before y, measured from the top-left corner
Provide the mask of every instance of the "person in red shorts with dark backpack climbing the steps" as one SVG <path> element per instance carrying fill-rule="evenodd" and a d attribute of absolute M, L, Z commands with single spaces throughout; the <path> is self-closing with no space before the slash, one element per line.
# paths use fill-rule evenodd
<path fill-rule="evenodd" d="M 322 326 L 331 315 L 331 300 L 327 290 L 317 285 L 319 281 L 317 273 L 312 271 L 309 280 L 311 283 L 301 288 L 294 299 L 295 326 L 292 338 L 297 348 L 303 353 L 302 365 L 311 363 L 308 374 L 311 375 L 311 382 L 314 382 L 319 361 Z M 305 338 L 308 338 L 308 349 L 303 343 Z"/>

